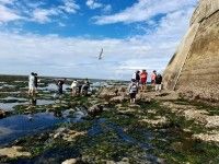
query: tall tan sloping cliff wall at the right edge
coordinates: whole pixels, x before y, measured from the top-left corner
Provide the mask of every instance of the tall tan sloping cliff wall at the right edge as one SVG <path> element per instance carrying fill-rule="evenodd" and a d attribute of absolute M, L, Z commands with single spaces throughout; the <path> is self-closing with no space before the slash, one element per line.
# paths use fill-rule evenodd
<path fill-rule="evenodd" d="M 191 26 L 164 71 L 164 87 L 219 99 L 219 0 L 200 0 Z"/>

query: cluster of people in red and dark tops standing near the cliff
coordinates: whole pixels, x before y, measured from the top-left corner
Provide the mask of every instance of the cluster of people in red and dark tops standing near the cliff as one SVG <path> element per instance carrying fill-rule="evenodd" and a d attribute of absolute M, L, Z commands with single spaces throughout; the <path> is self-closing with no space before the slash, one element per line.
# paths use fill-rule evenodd
<path fill-rule="evenodd" d="M 148 72 L 146 70 L 142 70 L 141 72 L 137 70 L 132 77 L 131 82 L 128 86 L 128 92 L 130 95 L 130 103 L 136 102 L 136 95 L 139 91 L 145 91 L 147 87 L 147 81 L 148 81 Z M 155 70 L 151 73 L 151 85 L 154 86 L 155 91 L 161 92 L 162 90 L 162 75 L 160 73 L 157 73 Z"/>

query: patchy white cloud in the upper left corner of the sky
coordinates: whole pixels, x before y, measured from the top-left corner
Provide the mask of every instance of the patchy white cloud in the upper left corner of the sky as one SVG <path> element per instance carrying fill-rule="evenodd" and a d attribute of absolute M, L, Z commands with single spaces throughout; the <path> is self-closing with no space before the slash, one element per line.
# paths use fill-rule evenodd
<path fill-rule="evenodd" d="M 44 8 L 45 2 L 0 0 L 0 23 L 18 20 L 46 23 L 54 21 L 54 16 L 66 16 L 77 13 L 80 7 L 74 0 L 62 0 L 62 4 Z"/>

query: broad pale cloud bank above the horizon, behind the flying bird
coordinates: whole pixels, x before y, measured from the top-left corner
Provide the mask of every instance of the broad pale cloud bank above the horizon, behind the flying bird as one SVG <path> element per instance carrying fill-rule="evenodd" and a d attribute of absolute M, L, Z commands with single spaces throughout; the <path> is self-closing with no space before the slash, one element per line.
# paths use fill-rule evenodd
<path fill-rule="evenodd" d="M 155 32 L 126 39 L 0 33 L 0 70 L 126 80 L 136 69 L 162 72 L 188 26 L 192 10 L 170 13 Z M 104 55 L 100 61 L 102 47 Z"/>

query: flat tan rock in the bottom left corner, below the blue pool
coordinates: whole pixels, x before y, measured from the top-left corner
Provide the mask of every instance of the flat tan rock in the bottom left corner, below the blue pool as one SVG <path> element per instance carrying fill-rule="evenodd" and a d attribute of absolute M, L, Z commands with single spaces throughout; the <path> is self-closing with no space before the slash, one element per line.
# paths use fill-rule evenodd
<path fill-rule="evenodd" d="M 22 147 L 12 147 L 0 149 L 0 156 L 7 156 L 10 159 L 20 157 L 20 156 L 31 156 L 30 152 L 22 151 Z"/>

